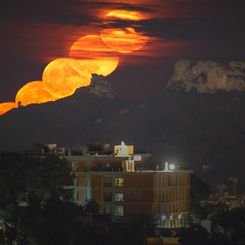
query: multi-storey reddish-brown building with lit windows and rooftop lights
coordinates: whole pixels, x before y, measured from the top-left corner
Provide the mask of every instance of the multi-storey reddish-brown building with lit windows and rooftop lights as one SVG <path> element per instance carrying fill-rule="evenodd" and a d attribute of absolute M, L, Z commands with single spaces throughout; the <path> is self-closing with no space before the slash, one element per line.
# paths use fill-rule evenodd
<path fill-rule="evenodd" d="M 53 145 L 50 145 L 55 152 Z M 47 146 L 46 146 L 47 148 Z M 49 149 L 49 148 L 48 148 Z M 60 154 L 74 171 L 74 202 L 83 205 L 95 199 L 103 214 L 115 221 L 142 216 L 154 218 L 159 228 L 186 224 L 190 204 L 190 170 L 176 170 L 165 163 L 150 169 L 148 153 L 135 153 L 124 142 L 114 146 L 77 147 Z"/>

